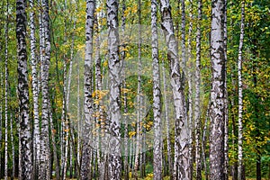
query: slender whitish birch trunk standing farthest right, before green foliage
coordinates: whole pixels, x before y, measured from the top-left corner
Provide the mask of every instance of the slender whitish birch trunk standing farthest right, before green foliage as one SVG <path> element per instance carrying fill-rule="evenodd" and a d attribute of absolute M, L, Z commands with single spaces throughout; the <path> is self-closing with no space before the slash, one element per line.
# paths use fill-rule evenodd
<path fill-rule="evenodd" d="M 243 84 L 242 84 L 242 50 L 245 34 L 245 1 L 241 5 L 241 28 L 238 47 L 238 180 L 244 179 L 243 168 Z"/>

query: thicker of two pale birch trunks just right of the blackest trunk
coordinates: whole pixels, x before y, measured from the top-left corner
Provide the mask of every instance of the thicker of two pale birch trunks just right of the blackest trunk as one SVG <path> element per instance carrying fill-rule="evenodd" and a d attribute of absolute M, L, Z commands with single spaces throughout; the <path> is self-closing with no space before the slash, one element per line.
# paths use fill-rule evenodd
<path fill-rule="evenodd" d="M 44 30 L 43 58 L 41 58 L 41 130 L 40 130 L 40 168 L 39 179 L 50 179 L 49 152 L 49 61 L 50 61 L 50 30 L 49 30 L 49 0 L 42 0 L 42 23 Z"/>

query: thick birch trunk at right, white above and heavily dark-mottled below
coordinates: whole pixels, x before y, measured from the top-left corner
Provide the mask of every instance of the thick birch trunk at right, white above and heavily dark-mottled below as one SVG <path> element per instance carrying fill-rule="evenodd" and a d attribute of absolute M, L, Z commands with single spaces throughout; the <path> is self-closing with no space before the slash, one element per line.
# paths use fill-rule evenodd
<path fill-rule="evenodd" d="M 224 122 L 226 109 L 225 54 L 224 54 L 224 0 L 211 1 L 211 179 L 225 179 Z"/>

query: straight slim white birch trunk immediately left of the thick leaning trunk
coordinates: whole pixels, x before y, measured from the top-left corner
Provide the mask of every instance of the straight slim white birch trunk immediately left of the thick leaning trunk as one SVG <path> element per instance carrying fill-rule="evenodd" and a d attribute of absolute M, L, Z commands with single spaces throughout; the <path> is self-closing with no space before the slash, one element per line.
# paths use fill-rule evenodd
<path fill-rule="evenodd" d="M 157 1 L 151 0 L 153 112 L 154 112 L 154 179 L 162 179 L 161 97 L 158 64 Z"/>

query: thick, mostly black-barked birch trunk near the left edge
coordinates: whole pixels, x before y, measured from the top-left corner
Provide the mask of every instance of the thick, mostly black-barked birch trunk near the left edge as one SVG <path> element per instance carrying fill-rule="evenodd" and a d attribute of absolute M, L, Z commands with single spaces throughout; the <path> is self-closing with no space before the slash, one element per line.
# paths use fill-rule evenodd
<path fill-rule="evenodd" d="M 20 144 L 21 144 L 21 176 L 22 179 L 33 178 L 31 154 L 31 123 L 29 117 L 29 87 L 26 52 L 26 13 L 25 0 L 16 1 L 16 38 L 18 53 L 18 96 L 20 107 Z"/>

